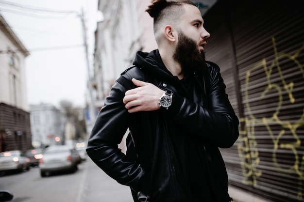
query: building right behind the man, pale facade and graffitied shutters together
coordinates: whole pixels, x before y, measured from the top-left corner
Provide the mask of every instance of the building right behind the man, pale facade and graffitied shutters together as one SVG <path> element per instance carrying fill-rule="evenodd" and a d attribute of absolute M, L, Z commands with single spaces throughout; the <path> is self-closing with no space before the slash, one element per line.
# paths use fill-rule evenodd
<path fill-rule="evenodd" d="M 240 120 L 221 153 L 235 196 L 246 202 L 304 201 L 304 13 L 297 0 L 192 0 Z M 156 48 L 151 0 L 99 0 L 92 85 L 97 109 L 135 52 Z M 248 193 L 251 195 L 249 196 Z M 235 198 L 237 200 L 237 198 Z"/>

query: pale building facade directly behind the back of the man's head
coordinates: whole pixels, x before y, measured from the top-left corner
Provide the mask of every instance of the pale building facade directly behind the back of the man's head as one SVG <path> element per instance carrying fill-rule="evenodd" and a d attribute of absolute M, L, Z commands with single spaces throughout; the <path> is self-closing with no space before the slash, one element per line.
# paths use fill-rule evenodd
<path fill-rule="evenodd" d="M 136 51 L 156 48 L 152 18 L 144 12 L 148 3 L 149 0 L 99 1 L 98 8 L 104 16 L 98 23 L 95 41 L 94 72 L 99 107 L 120 73 L 132 64 Z M 146 26 L 139 26 L 139 20 Z"/>

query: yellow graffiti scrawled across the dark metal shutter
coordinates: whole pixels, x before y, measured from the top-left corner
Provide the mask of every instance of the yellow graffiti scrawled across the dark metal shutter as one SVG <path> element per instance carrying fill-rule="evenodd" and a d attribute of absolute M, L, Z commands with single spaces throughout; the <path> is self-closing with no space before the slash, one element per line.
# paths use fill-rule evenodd
<path fill-rule="evenodd" d="M 275 38 L 272 37 L 272 44 L 274 48 L 274 60 L 271 63 L 268 63 L 266 59 L 262 59 L 260 62 L 255 64 L 252 68 L 250 68 L 246 72 L 245 79 L 245 90 L 244 90 L 244 103 L 245 109 L 247 110 L 246 117 L 241 118 L 240 122 L 243 128 L 240 130 L 239 141 L 242 142 L 242 145 L 238 145 L 238 155 L 242 159 L 241 160 L 241 168 L 242 174 L 244 176 L 244 180 L 242 181 L 245 185 L 256 186 L 258 181 L 257 178 L 262 175 L 262 171 L 259 171 L 258 165 L 260 163 L 259 152 L 257 148 L 257 141 L 255 139 L 255 127 L 256 126 L 264 126 L 266 127 L 270 138 L 273 143 L 272 148 L 272 163 L 274 165 L 274 169 L 277 172 L 287 173 L 287 174 L 297 174 L 298 175 L 298 196 L 299 200 L 303 199 L 303 184 L 304 180 L 304 154 L 299 154 L 297 148 L 301 145 L 301 139 L 297 134 L 297 129 L 304 125 L 304 109 L 302 116 L 297 121 L 291 120 L 281 120 L 279 118 L 280 110 L 282 109 L 283 104 L 286 105 L 287 101 L 283 99 L 284 94 L 288 95 L 289 104 L 296 104 L 296 99 L 293 95 L 294 90 L 294 82 L 287 82 L 284 78 L 284 74 L 282 68 L 280 66 L 280 60 L 287 59 L 296 64 L 296 68 L 293 68 L 294 71 L 299 70 L 299 74 L 301 74 L 304 78 L 304 69 L 301 63 L 297 60 L 297 57 L 300 55 L 301 51 L 304 50 L 304 45 L 297 50 L 293 54 L 286 53 L 278 53 L 275 43 Z M 273 70 L 276 68 L 278 77 L 274 78 L 272 76 Z M 260 97 L 255 98 L 255 100 L 262 100 L 271 92 L 276 92 L 276 96 L 278 97 L 276 106 L 273 108 L 273 113 L 270 117 L 262 117 L 256 118 L 254 112 L 252 111 L 249 94 L 250 94 L 250 78 L 254 71 L 260 72 L 264 71 L 266 75 L 267 85 L 264 88 L 264 91 L 260 94 Z M 298 75 L 299 75 L 298 74 Z M 272 79 L 271 79 L 272 76 Z M 280 82 L 283 85 L 279 85 Z M 272 95 L 273 96 L 273 95 Z M 253 101 L 251 101 L 253 102 Z M 297 106 L 299 108 L 299 103 Z M 304 104 L 300 103 L 300 107 L 304 107 Z M 271 129 L 271 125 L 278 125 L 281 127 L 281 130 L 273 131 Z M 281 140 L 284 140 L 284 135 L 288 132 L 291 134 L 294 141 L 289 143 L 282 143 Z M 293 165 L 290 167 L 282 167 L 280 166 L 277 159 L 277 152 L 279 149 L 285 149 L 290 151 L 292 155 L 294 155 Z M 301 156 L 302 155 L 302 156 Z"/>

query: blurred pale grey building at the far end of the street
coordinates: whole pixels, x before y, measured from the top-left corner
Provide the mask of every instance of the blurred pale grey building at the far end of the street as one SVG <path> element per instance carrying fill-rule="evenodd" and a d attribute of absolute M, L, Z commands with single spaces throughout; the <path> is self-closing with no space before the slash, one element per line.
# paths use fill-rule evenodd
<path fill-rule="evenodd" d="M 65 142 L 65 115 L 51 104 L 30 105 L 32 141 L 35 147 Z"/>

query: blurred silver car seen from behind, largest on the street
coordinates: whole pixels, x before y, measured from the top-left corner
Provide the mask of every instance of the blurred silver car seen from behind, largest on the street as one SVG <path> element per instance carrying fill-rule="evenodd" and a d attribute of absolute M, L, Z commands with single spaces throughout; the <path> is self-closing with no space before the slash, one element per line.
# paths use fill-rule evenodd
<path fill-rule="evenodd" d="M 55 171 L 77 171 L 81 162 L 80 155 L 74 148 L 66 145 L 52 145 L 46 148 L 39 159 L 41 177 Z"/>

